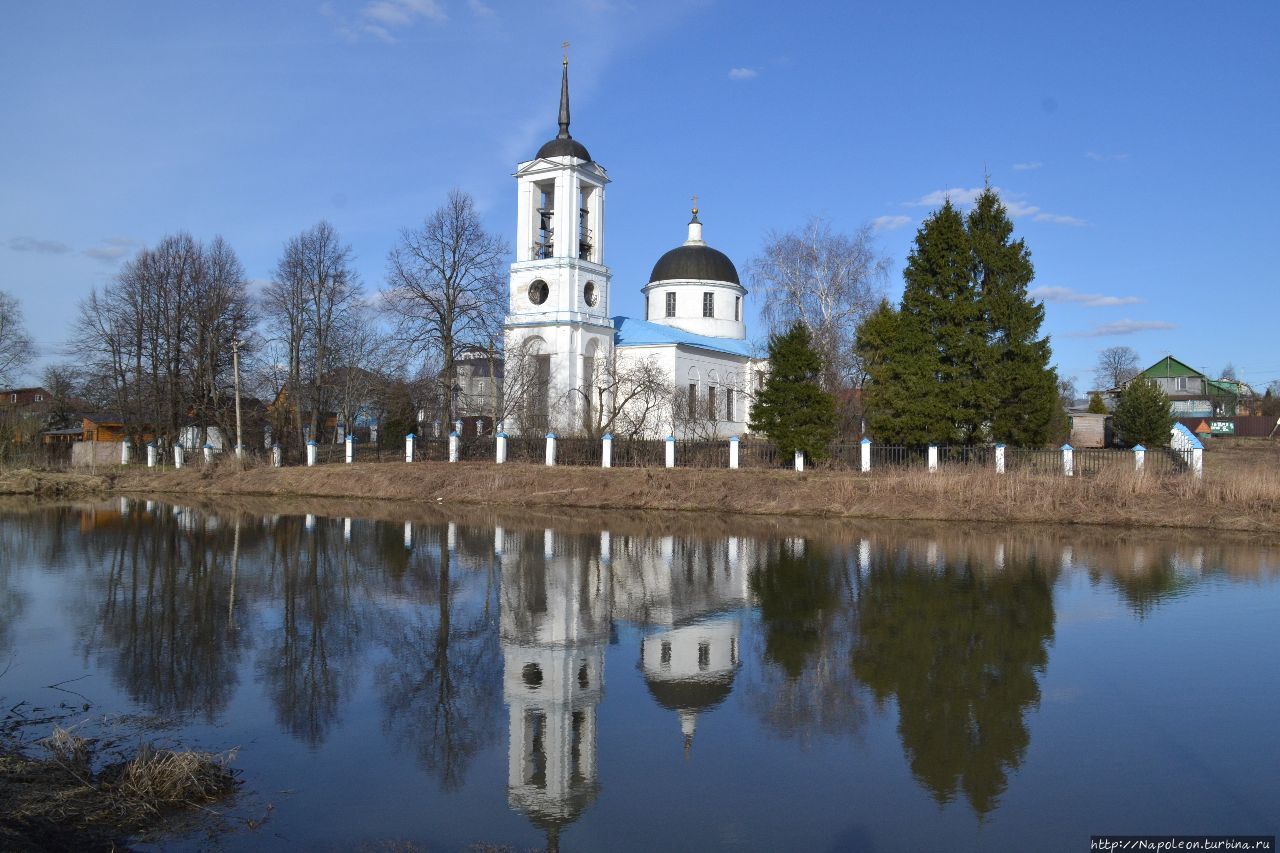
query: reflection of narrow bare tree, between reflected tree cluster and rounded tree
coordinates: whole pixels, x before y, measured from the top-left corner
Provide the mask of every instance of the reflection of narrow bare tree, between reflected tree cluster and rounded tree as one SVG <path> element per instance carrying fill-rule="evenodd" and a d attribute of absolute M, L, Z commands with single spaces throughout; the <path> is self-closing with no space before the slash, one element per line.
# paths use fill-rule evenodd
<path fill-rule="evenodd" d="M 257 676 L 280 725 L 317 745 L 355 684 L 361 620 L 346 551 L 330 544 L 328 524 L 305 533 L 300 521 L 282 519 L 276 526 L 271 570 L 280 625 L 266 633 Z"/>

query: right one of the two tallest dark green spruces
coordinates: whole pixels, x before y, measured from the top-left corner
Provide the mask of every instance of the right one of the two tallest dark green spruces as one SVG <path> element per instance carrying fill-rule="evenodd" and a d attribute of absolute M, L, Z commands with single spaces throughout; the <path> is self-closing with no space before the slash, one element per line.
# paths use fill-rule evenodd
<path fill-rule="evenodd" d="M 991 438 L 1034 447 L 1050 439 L 1061 406 L 1050 366 L 1048 338 L 1041 337 L 1044 305 L 1027 288 L 1036 275 L 1027 243 L 1012 240 L 1014 223 L 989 186 L 969 211 L 974 279 L 987 320 L 987 388 Z"/>

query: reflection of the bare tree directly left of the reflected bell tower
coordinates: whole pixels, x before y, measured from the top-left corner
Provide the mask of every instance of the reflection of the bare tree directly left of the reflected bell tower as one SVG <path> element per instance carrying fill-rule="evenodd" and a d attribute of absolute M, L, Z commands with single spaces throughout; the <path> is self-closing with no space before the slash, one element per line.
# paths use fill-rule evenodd
<path fill-rule="evenodd" d="M 389 615 L 388 661 L 375 672 L 384 726 L 411 747 L 447 790 L 461 788 L 471 760 L 498 734 L 502 706 L 502 652 L 490 612 L 494 589 L 483 603 L 458 612 L 458 580 L 452 576 L 445 529 L 435 528 L 439 556 L 420 565 L 434 580 L 435 612 Z M 426 584 L 424 584 L 425 592 Z"/>

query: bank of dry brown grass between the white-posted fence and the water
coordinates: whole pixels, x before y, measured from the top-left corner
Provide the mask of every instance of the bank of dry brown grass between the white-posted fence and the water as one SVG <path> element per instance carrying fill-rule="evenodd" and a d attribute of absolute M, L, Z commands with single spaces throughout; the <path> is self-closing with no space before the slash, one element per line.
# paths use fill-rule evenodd
<path fill-rule="evenodd" d="M 854 471 L 598 469 L 532 464 L 357 462 L 316 467 L 113 469 L 95 474 L 0 471 L 0 494 L 33 498 L 168 494 L 329 498 L 503 510 L 692 512 L 746 516 L 1101 525 L 1280 532 L 1280 473 L 1242 479 L 951 469 Z"/>

